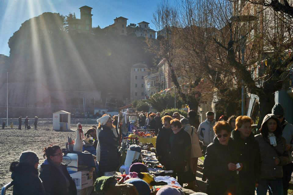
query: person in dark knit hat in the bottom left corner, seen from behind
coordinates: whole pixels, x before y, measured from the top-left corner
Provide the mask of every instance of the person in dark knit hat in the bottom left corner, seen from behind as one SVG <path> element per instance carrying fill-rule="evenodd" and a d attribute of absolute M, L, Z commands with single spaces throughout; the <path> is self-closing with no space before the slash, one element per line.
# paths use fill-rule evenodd
<path fill-rule="evenodd" d="M 38 172 L 39 158 L 33 151 L 24 151 L 19 162 L 10 164 L 13 195 L 45 195 Z"/>

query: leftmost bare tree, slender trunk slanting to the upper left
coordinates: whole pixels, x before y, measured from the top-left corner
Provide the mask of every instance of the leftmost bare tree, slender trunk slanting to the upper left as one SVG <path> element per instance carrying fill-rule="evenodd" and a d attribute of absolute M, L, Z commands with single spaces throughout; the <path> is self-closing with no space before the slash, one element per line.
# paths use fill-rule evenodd
<path fill-rule="evenodd" d="M 157 10 L 153 14 L 153 23 L 159 32 L 158 40 L 160 45 L 156 47 L 152 39 L 148 39 L 147 41 L 149 48 L 157 54 L 157 57 L 165 59 L 170 70 L 170 75 L 168 76 L 174 83 L 176 93 L 179 94 L 183 103 L 188 104 L 191 109 L 197 110 L 201 92 L 194 90 L 194 88 L 201 81 L 201 76 L 200 74 L 190 75 L 190 68 L 189 71 L 186 71 L 192 61 L 190 61 L 185 55 L 186 53 L 182 50 L 183 42 L 180 32 L 182 29 L 178 27 L 178 19 L 177 10 L 170 6 L 168 2 L 162 1 L 161 4 L 158 4 Z M 182 69 L 183 67 L 185 69 Z M 179 81 L 178 78 L 181 80 Z M 182 89 L 182 84 L 185 83 L 189 83 L 186 86 L 190 87 L 188 91 L 192 91 L 193 93 L 188 93 Z"/>

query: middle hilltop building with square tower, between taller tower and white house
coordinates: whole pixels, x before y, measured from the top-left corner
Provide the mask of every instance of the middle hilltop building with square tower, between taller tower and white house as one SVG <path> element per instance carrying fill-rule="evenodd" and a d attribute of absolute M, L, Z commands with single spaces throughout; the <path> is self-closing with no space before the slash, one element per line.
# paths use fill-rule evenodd
<path fill-rule="evenodd" d="M 126 35 L 127 34 L 127 20 L 128 18 L 125 17 L 116 17 L 114 19 L 114 24 L 111 24 L 103 30 L 105 31 L 106 34 L 114 33 L 114 34 L 119 34 L 119 35 Z"/>

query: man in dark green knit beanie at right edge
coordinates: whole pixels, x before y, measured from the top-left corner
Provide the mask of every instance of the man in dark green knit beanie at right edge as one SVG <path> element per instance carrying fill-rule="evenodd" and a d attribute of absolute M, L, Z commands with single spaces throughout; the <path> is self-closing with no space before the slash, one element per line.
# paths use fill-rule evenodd
<path fill-rule="evenodd" d="M 293 151 L 293 125 L 288 123 L 284 117 L 284 109 L 280 103 L 276 103 L 272 109 L 272 114 L 278 117 L 283 128 L 282 137 L 286 139 L 286 154 L 288 153 L 289 162 L 283 166 L 283 192 L 288 194 L 289 182 L 293 171 L 292 151 Z"/>

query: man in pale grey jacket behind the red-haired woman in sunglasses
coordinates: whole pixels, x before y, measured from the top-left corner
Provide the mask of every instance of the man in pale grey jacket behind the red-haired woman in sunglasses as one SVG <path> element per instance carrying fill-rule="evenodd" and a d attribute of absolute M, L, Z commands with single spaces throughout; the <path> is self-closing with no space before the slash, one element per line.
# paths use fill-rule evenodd
<path fill-rule="evenodd" d="M 213 142 L 215 137 L 215 132 L 213 130 L 213 126 L 215 125 L 214 113 L 212 111 L 208 111 L 206 113 L 207 119 L 202 122 L 197 130 L 198 138 L 201 142 L 203 142 L 203 154 L 205 154 L 205 150 L 207 146 Z"/>

